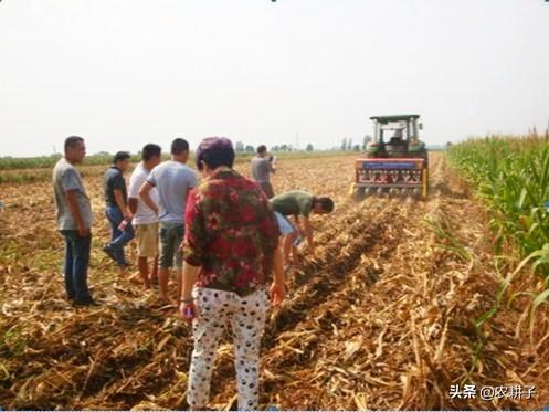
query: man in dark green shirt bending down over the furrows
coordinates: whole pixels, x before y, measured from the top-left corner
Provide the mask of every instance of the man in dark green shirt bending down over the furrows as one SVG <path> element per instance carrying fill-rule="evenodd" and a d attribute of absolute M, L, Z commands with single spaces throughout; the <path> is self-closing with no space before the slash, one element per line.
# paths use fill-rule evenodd
<path fill-rule="evenodd" d="M 314 252 L 315 250 L 313 226 L 309 222 L 310 213 L 331 213 L 334 211 L 334 201 L 328 197 L 316 197 L 302 190 L 292 190 L 271 199 L 271 204 L 273 205 L 278 222 L 283 222 L 281 219 L 287 221 L 288 216 L 294 216 L 296 229 L 291 233 L 283 230 L 281 231 L 287 233 L 284 236 L 283 243 L 284 263 L 286 265 L 291 263 L 289 252 L 292 251 L 292 263 L 298 264 L 296 243 L 299 242 L 299 236 L 307 239 L 309 252 Z"/>

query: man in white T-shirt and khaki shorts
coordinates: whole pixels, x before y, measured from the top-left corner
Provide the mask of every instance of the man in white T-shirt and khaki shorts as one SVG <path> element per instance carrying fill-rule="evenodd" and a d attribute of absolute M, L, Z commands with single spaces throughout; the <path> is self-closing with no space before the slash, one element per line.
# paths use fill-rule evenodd
<path fill-rule="evenodd" d="M 147 181 L 150 171 L 160 163 L 161 148 L 158 145 L 145 145 L 141 162 L 137 165 L 129 178 L 128 207 L 134 214 L 133 225 L 137 239 L 137 267 L 145 288 L 150 288 L 151 281 L 158 277 L 158 215 L 140 198 L 139 189 Z M 158 208 L 158 192 L 154 188 L 150 198 Z M 149 260 L 152 271 L 149 274 Z"/>

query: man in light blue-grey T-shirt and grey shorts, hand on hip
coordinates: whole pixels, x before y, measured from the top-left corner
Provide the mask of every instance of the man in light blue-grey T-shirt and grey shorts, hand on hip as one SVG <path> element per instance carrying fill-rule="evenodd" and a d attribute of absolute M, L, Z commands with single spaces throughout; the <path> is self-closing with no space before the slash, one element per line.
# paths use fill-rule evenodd
<path fill-rule="evenodd" d="M 181 283 L 182 256 L 179 250 L 184 234 L 184 208 L 187 196 L 197 186 L 197 176 L 187 166 L 189 160 L 189 144 L 184 139 L 175 139 L 171 144 L 171 160 L 154 168 L 139 190 L 145 204 L 158 214 L 160 221 L 160 271 L 158 283 L 160 298 L 168 298 L 168 279 L 170 268 L 176 265 L 179 305 L 179 284 Z M 150 197 L 156 188 L 159 205 Z"/>

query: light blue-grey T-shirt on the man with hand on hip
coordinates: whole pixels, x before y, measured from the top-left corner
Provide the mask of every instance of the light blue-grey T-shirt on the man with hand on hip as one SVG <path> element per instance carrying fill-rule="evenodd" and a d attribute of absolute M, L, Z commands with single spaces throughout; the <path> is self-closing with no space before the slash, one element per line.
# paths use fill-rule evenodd
<path fill-rule="evenodd" d="M 197 186 L 197 175 L 178 161 L 154 168 L 147 181 L 158 190 L 160 222 L 184 223 L 187 196 Z"/>

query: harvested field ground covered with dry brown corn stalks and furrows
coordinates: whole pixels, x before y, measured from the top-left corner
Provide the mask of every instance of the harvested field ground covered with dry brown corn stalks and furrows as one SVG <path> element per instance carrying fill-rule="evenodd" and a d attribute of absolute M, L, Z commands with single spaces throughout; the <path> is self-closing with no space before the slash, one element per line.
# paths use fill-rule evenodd
<path fill-rule="evenodd" d="M 524 307 L 494 304 L 498 274 L 482 208 L 432 154 L 427 201 L 349 199 L 353 156 L 281 162 L 275 190 L 330 194 L 318 243 L 264 338 L 262 406 L 281 409 L 540 409 L 547 340 L 516 334 Z M 242 168 L 239 167 L 239 168 Z M 0 186 L 0 406 L 184 409 L 189 328 L 118 278 L 101 179 L 85 181 L 96 223 L 89 284 L 105 305 L 64 299 L 62 241 L 49 182 Z M 517 328 L 519 329 L 519 328 Z M 520 331 L 520 330 L 519 330 Z M 225 339 L 225 342 L 228 340 Z M 232 347 L 218 351 L 212 408 L 234 406 Z M 453 384 L 535 385 L 530 400 L 452 399 Z"/>

